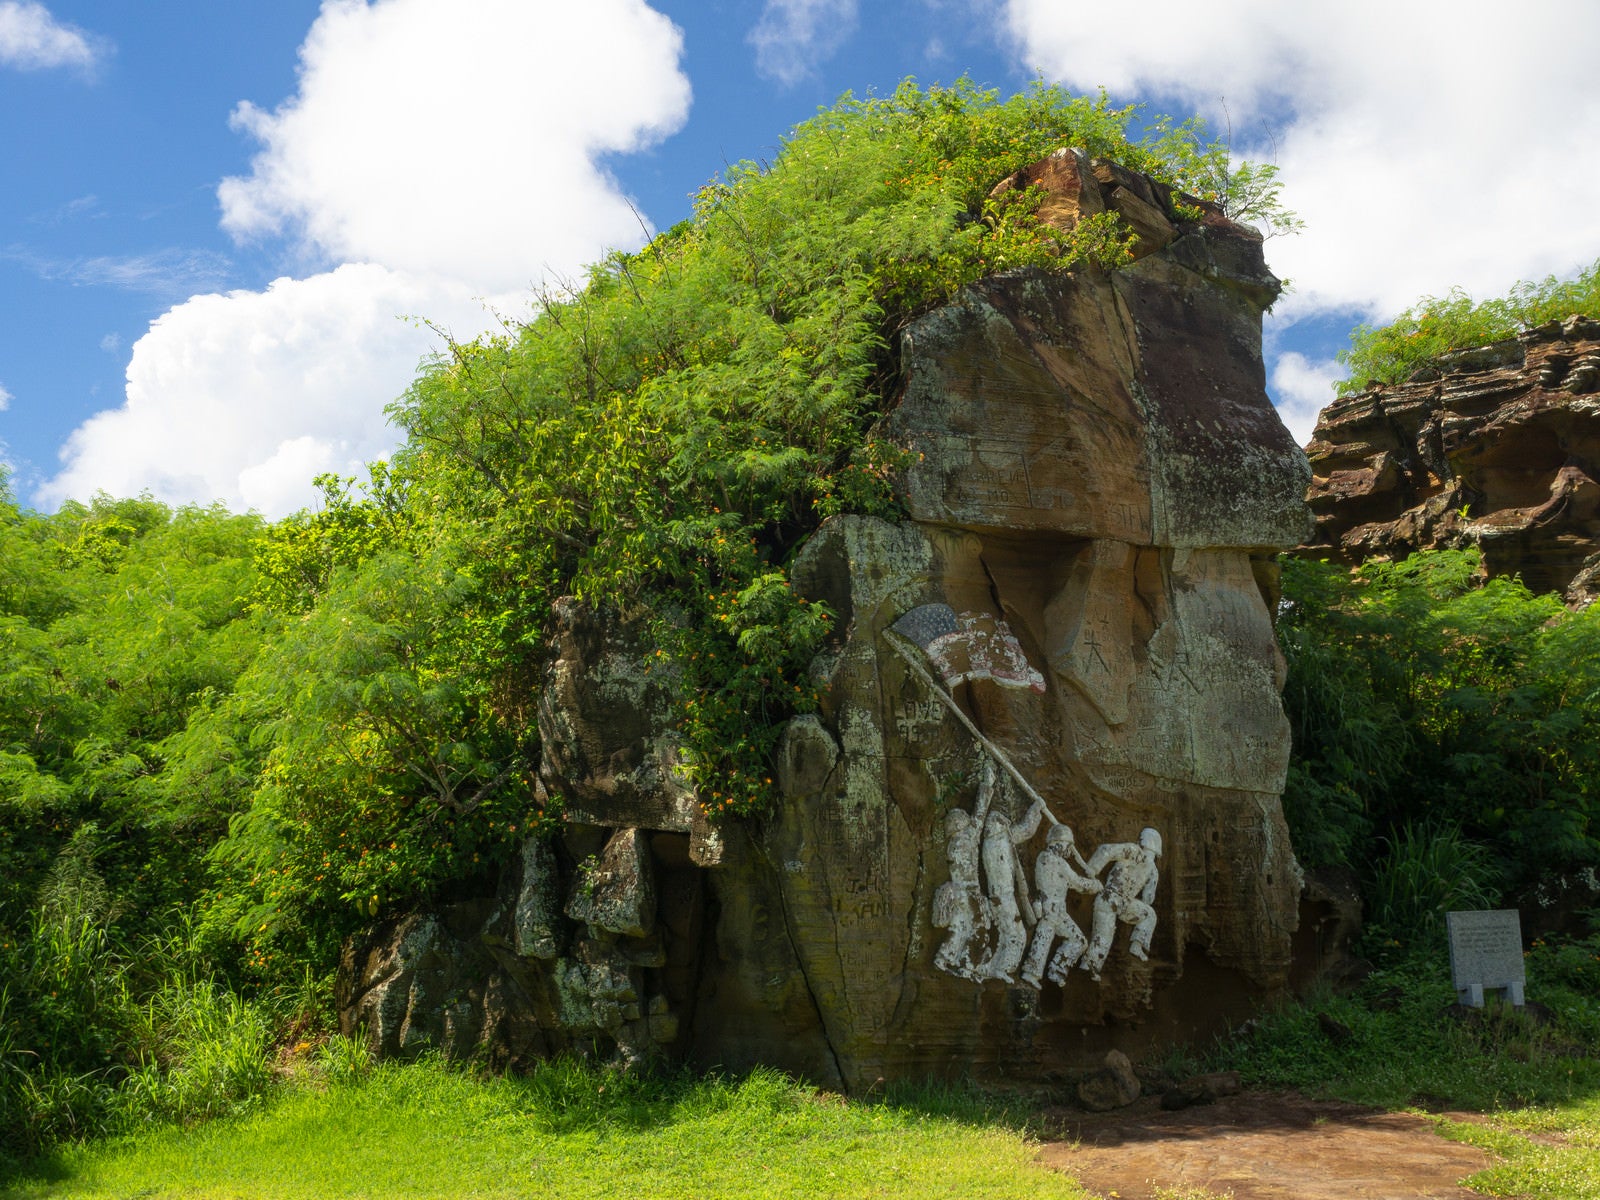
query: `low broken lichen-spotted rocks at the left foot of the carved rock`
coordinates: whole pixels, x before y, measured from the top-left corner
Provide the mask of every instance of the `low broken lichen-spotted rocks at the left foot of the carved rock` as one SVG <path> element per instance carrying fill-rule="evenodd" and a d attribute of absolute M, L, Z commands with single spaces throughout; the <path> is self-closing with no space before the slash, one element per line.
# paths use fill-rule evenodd
<path fill-rule="evenodd" d="M 597 1048 L 654 1058 L 694 1006 L 702 874 L 682 834 L 574 826 L 530 838 L 494 896 L 352 939 L 341 1024 L 381 1054 L 486 1053 L 512 1067 Z"/>

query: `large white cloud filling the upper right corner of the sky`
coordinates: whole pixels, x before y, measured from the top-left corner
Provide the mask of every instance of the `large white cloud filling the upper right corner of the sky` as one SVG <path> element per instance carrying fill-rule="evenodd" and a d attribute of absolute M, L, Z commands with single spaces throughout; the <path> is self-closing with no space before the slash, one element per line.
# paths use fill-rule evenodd
<path fill-rule="evenodd" d="M 1006 0 L 1019 54 L 1046 75 L 1176 99 L 1282 166 L 1306 232 L 1267 243 L 1294 283 L 1275 330 L 1594 261 L 1594 0 L 1149 0 L 1139 14 Z"/>

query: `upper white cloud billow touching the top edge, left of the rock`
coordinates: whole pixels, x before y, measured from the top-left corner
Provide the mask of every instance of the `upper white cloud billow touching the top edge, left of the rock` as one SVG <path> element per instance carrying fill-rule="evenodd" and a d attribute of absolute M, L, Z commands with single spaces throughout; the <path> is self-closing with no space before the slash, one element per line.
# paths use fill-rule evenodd
<path fill-rule="evenodd" d="M 688 115 L 682 35 L 642 0 L 328 0 L 296 96 L 240 104 L 261 142 L 222 181 L 237 237 L 525 288 L 640 237 L 602 155 Z"/>

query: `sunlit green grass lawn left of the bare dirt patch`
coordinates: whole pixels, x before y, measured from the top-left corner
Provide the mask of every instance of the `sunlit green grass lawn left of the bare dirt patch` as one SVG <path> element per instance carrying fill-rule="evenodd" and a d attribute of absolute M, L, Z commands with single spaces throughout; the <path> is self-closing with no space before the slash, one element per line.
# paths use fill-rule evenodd
<path fill-rule="evenodd" d="M 432 1064 L 290 1086 L 259 1112 L 64 1150 L 16 1197 L 1064 1197 L 963 1093 L 859 1104 L 771 1074 L 638 1080 Z M 942 1112 L 939 1110 L 942 1109 Z"/>

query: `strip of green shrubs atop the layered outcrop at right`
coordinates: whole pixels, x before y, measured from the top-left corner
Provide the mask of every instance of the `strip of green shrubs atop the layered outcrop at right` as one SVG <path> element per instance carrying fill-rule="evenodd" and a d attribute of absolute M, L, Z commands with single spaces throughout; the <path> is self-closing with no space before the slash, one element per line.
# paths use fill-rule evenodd
<path fill-rule="evenodd" d="M 1573 314 L 1600 317 L 1600 259 L 1574 278 L 1523 280 L 1483 301 L 1461 288 L 1424 296 L 1387 325 L 1350 331 L 1350 347 L 1338 355 L 1350 374 L 1336 390 L 1355 395 L 1376 384 L 1405 382 L 1450 350 L 1488 346 Z"/>

